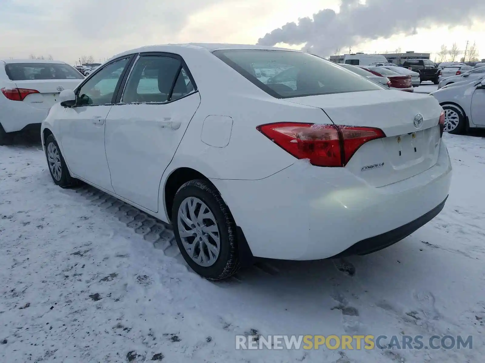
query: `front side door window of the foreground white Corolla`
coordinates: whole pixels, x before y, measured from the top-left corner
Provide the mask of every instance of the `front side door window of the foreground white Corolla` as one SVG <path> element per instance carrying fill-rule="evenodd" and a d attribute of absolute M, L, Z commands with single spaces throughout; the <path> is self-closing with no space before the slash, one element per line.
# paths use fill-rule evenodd
<path fill-rule="evenodd" d="M 129 58 L 115 61 L 92 76 L 79 90 L 76 106 L 112 103 L 113 93 Z"/>

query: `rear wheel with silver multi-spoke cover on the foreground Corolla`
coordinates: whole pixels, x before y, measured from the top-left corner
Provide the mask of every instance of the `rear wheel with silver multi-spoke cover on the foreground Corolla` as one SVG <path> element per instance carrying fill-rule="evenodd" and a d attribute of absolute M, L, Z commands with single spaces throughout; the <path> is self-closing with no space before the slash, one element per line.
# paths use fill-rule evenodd
<path fill-rule="evenodd" d="M 202 277 L 221 280 L 240 269 L 236 223 L 210 182 L 192 180 L 178 189 L 172 224 L 180 253 Z"/>

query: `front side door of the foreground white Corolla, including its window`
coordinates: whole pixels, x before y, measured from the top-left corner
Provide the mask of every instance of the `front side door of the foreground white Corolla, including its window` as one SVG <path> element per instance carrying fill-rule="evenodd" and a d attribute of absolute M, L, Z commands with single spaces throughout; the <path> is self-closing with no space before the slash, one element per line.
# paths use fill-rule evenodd
<path fill-rule="evenodd" d="M 65 107 L 60 138 L 71 171 L 86 181 L 113 192 L 104 148 L 105 121 L 113 105 L 131 56 L 114 60 L 83 82 L 77 101 Z"/>

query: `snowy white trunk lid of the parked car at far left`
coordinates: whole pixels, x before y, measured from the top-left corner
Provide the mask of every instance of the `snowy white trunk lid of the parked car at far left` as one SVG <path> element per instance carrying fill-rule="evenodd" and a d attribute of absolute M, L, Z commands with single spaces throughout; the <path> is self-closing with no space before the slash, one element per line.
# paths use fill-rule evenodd
<path fill-rule="evenodd" d="M 24 98 L 23 102 L 34 108 L 49 109 L 58 101 L 59 93 L 63 90 L 74 90 L 82 79 L 28 79 L 13 81 L 17 88 L 36 90 Z"/>

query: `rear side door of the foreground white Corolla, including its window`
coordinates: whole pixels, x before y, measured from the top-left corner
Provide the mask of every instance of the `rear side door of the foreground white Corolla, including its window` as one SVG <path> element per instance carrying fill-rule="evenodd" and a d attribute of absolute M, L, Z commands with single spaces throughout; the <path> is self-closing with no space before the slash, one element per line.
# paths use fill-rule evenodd
<path fill-rule="evenodd" d="M 181 57 L 140 54 L 106 119 L 106 156 L 117 195 L 158 212 L 162 174 L 199 104 Z"/>

